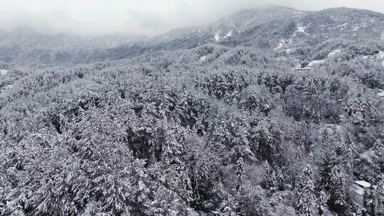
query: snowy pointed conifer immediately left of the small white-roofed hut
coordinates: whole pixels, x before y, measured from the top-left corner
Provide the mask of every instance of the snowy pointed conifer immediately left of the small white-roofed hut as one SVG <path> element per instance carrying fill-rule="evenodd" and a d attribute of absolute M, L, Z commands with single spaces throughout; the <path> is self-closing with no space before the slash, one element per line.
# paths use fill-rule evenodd
<path fill-rule="evenodd" d="M 338 169 L 338 166 L 334 166 L 331 169 L 331 183 L 329 185 L 329 204 L 336 212 L 343 212 L 346 210 L 346 180 Z"/>

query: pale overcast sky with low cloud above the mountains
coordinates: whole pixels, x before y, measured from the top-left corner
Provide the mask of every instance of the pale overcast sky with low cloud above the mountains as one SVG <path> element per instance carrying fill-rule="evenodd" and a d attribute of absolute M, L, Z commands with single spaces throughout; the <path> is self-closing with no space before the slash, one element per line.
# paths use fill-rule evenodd
<path fill-rule="evenodd" d="M 0 0 L 0 28 L 153 36 L 266 5 L 302 10 L 346 6 L 384 13 L 384 0 Z"/>

